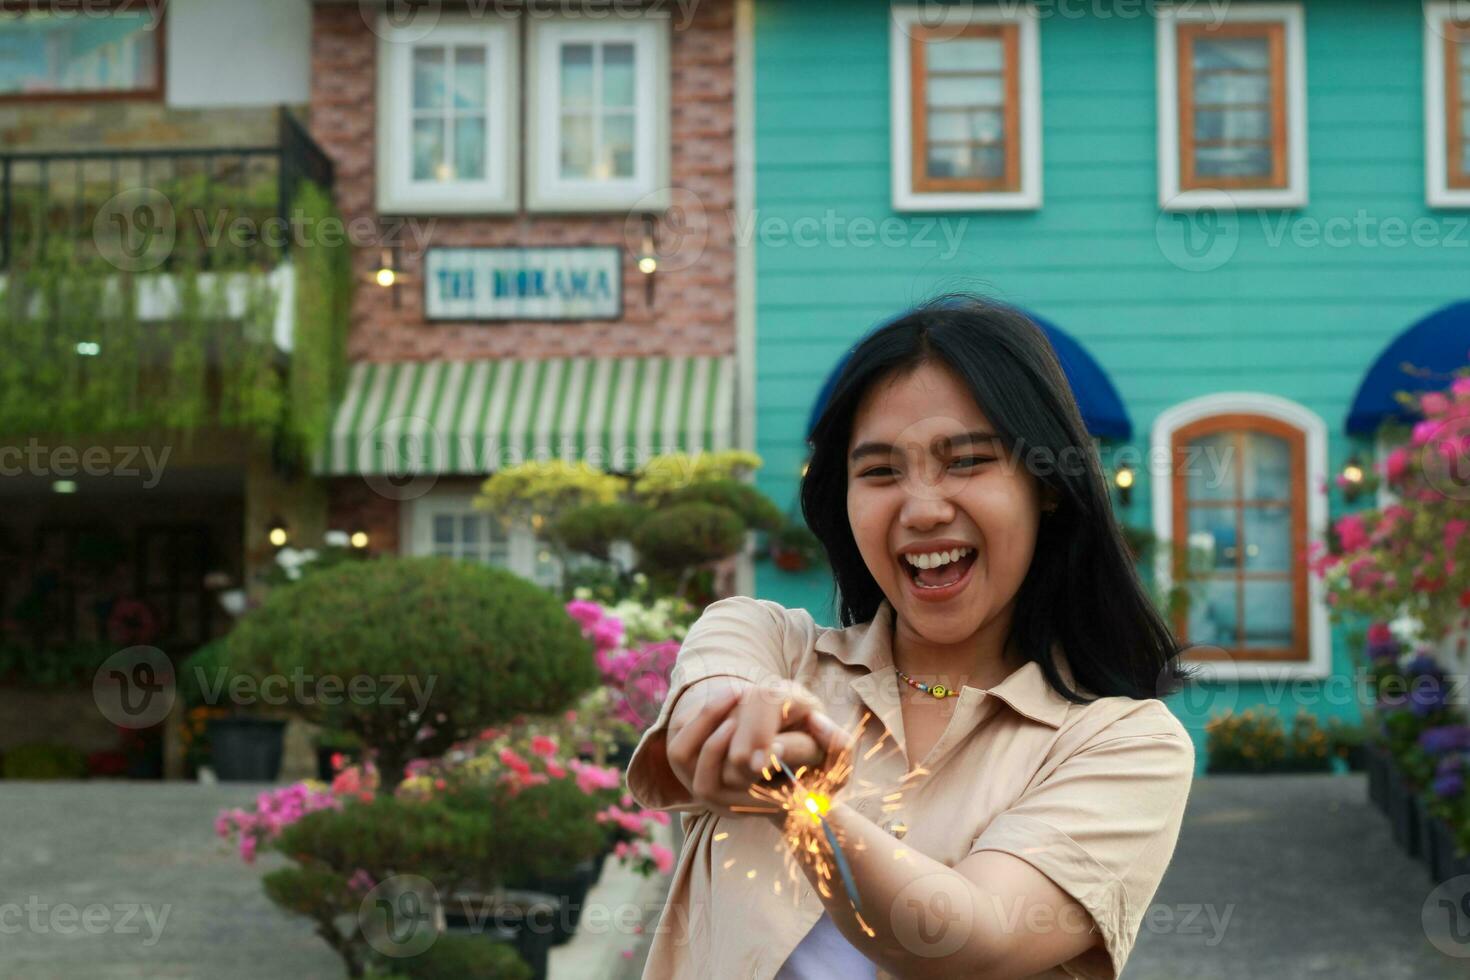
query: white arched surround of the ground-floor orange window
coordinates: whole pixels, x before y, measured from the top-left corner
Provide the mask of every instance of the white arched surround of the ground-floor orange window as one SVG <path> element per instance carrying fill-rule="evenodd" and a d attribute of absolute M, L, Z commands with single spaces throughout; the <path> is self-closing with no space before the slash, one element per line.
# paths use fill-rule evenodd
<path fill-rule="evenodd" d="M 1154 453 L 1167 458 L 1167 467 L 1155 475 L 1152 483 L 1154 535 L 1158 541 L 1173 538 L 1173 445 L 1175 432 L 1200 419 L 1220 414 L 1255 414 L 1277 419 L 1301 430 L 1305 439 L 1307 473 L 1307 547 L 1326 545 L 1327 533 L 1327 425 L 1310 408 L 1257 391 L 1222 391 L 1200 398 L 1191 398 L 1172 406 L 1154 419 L 1151 432 Z M 1158 548 L 1154 555 L 1154 580 L 1167 592 L 1173 585 L 1170 552 L 1173 548 Z M 1304 555 L 1298 555 L 1304 560 Z M 1264 660 L 1191 660 L 1200 666 L 1200 677 L 1207 680 L 1267 680 L 1280 677 L 1326 677 L 1332 673 L 1332 629 L 1327 620 L 1327 602 L 1322 579 L 1307 573 L 1307 661 L 1280 663 Z"/>

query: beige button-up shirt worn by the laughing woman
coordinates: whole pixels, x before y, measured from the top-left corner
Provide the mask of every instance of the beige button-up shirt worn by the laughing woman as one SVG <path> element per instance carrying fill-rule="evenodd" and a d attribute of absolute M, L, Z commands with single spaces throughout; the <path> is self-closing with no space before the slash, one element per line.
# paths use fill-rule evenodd
<path fill-rule="evenodd" d="M 839 799 L 856 796 L 858 813 L 936 861 L 953 867 L 976 851 L 1004 851 L 1072 895 L 1092 914 L 1105 951 L 1092 948 L 1039 977 L 1113 980 L 1123 971 L 1179 836 L 1195 765 L 1188 732 L 1158 699 L 1072 704 L 1028 663 L 991 689 L 964 686 L 947 698 L 953 714 L 920 763 L 928 774 L 903 783 L 892 617 L 885 601 L 870 623 L 829 629 L 806 610 L 735 597 L 711 604 L 689 629 L 669 696 L 628 764 L 634 798 L 682 811 L 685 829 L 644 977 L 769 980 L 825 911 L 804 877 L 792 886 L 775 826 L 713 815 L 669 768 L 675 702 L 716 676 L 797 680 L 850 730 L 870 714 Z M 1060 649 L 1054 658 L 1080 691 Z M 885 748 L 867 757 L 885 735 Z M 860 782 L 881 790 L 903 783 L 903 808 L 883 813 L 883 792 L 857 790 Z"/>

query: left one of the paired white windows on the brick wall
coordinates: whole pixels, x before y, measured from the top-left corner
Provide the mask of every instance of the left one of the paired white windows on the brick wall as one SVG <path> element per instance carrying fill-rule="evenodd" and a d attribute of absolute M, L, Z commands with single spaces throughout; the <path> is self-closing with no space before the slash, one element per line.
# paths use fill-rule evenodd
<path fill-rule="evenodd" d="M 517 207 L 517 19 L 378 19 L 378 210 Z"/>

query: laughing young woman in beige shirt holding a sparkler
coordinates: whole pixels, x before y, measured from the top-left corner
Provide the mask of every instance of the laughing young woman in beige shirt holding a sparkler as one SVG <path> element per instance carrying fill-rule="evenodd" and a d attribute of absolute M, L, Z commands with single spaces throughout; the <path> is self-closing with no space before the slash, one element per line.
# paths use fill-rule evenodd
<path fill-rule="evenodd" d="M 1189 793 L 1186 674 L 1045 335 L 966 295 L 870 334 L 801 505 L 842 626 L 711 604 L 629 761 L 686 835 L 644 976 L 1116 977 Z M 851 760 L 820 801 L 851 887 L 806 814 L 751 813 L 773 754 Z"/>

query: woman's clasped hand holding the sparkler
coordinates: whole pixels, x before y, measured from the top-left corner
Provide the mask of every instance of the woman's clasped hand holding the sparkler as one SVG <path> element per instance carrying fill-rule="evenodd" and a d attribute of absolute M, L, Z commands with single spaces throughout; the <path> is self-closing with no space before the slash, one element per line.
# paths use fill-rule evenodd
<path fill-rule="evenodd" d="M 679 699 L 666 752 L 694 801 L 728 817 L 732 807 L 760 805 L 750 790 L 772 752 L 797 768 L 822 765 L 845 745 L 847 735 L 800 685 L 711 677 Z"/>

